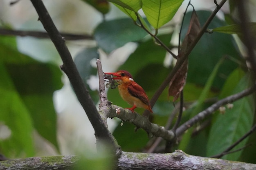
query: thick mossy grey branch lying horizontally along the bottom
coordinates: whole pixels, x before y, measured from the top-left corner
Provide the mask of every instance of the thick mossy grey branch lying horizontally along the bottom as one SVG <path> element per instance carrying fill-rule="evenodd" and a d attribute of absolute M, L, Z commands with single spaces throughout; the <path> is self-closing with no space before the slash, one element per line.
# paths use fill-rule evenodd
<path fill-rule="evenodd" d="M 68 170 L 77 156 L 31 157 L 0 161 L 1 170 Z M 181 150 L 168 154 L 122 152 L 118 170 L 255 170 L 256 164 L 187 155 Z"/>

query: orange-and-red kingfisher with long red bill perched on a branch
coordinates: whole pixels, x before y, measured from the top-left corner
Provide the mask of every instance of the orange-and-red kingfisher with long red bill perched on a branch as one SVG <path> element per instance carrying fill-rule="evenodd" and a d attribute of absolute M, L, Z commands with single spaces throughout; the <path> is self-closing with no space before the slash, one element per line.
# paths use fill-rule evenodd
<path fill-rule="evenodd" d="M 139 84 L 137 84 L 133 79 L 132 75 L 128 71 L 120 70 L 116 73 L 104 73 L 108 75 L 113 75 L 113 79 L 118 79 L 120 84 L 118 85 L 118 91 L 121 97 L 128 104 L 132 105 L 131 108 L 127 108 L 134 113 L 134 109 L 145 108 L 153 113 L 151 109 L 148 96 Z"/>

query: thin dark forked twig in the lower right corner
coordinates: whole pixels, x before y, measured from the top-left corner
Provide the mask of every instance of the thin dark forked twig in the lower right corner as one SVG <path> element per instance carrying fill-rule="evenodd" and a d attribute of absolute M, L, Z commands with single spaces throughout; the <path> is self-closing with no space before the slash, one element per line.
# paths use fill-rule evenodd
<path fill-rule="evenodd" d="M 235 146 L 237 146 L 241 141 L 243 141 L 245 138 L 247 138 L 249 135 L 251 135 L 254 131 L 256 130 L 256 124 L 249 130 L 249 132 L 247 132 L 245 135 L 243 135 L 240 139 L 238 139 L 234 144 L 232 144 L 231 146 L 229 146 L 229 148 L 227 148 L 226 150 L 224 150 L 222 153 L 218 154 L 218 155 L 214 155 L 212 156 L 212 158 L 221 158 L 224 155 L 233 153 L 233 152 L 237 152 L 238 150 L 232 151 L 230 152 L 231 149 L 233 149 Z"/>

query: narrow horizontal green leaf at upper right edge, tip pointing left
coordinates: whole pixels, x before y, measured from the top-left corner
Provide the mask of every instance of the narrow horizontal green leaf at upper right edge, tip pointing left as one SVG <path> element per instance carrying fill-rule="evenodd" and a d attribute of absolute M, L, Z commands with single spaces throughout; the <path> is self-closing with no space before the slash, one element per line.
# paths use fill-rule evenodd
<path fill-rule="evenodd" d="M 247 23 L 249 29 L 252 31 L 253 35 L 256 35 L 256 22 Z M 226 34 L 238 34 L 242 35 L 241 25 L 240 24 L 231 24 L 227 26 L 220 26 L 213 29 L 214 32 L 226 33 Z"/>

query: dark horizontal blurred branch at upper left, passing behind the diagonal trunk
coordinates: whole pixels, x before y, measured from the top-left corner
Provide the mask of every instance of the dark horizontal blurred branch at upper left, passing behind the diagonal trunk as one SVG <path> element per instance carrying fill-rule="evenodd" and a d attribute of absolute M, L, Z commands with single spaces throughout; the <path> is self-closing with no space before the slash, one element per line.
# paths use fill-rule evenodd
<path fill-rule="evenodd" d="M 21 30 L 11 30 L 11 29 L 2 29 L 0 28 L 0 35 L 13 35 L 13 36 L 31 36 L 34 38 L 49 38 L 47 32 L 43 31 L 21 31 Z M 71 34 L 71 33 L 61 33 L 65 40 L 93 40 L 91 35 L 82 35 L 82 34 Z"/>

